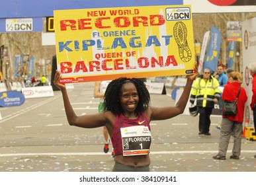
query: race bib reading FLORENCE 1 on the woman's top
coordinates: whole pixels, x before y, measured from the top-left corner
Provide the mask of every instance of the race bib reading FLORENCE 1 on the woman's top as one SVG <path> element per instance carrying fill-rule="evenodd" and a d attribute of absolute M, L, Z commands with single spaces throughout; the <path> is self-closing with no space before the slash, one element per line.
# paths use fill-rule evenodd
<path fill-rule="evenodd" d="M 147 126 L 120 128 L 124 156 L 147 155 L 151 144 L 151 132 Z"/>

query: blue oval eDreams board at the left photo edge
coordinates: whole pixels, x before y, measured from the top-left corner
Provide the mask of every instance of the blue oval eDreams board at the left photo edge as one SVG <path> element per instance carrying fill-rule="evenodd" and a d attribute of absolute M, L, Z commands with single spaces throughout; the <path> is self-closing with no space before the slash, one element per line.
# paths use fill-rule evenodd
<path fill-rule="evenodd" d="M 0 106 L 19 106 L 25 101 L 24 95 L 18 91 L 0 92 Z"/>

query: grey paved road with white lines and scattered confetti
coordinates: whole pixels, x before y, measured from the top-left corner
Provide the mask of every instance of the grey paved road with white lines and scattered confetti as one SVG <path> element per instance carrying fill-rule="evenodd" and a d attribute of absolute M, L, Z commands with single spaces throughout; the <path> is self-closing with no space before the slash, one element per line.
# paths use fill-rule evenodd
<path fill-rule="evenodd" d="M 69 89 L 78 115 L 97 112 L 94 83 Z M 103 153 L 102 128 L 83 129 L 67 124 L 60 91 L 54 97 L 30 98 L 22 106 L 1 108 L 0 172 L 110 172 L 110 153 Z M 174 105 L 167 95 L 151 94 L 153 106 Z M 151 171 L 153 172 L 255 172 L 255 141 L 243 139 L 240 160 L 216 161 L 221 122 L 212 117 L 210 133 L 198 135 L 198 117 L 180 115 L 151 122 Z M 228 156 L 231 155 L 231 141 Z"/>

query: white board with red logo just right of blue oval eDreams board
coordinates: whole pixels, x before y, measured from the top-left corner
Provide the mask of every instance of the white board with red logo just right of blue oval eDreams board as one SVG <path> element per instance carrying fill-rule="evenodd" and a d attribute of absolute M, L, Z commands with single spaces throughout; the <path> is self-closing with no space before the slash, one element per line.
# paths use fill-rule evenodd
<path fill-rule="evenodd" d="M 52 86 L 41 86 L 41 87 L 24 87 L 21 89 L 22 94 L 25 98 L 40 98 L 54 96 Z"/>

